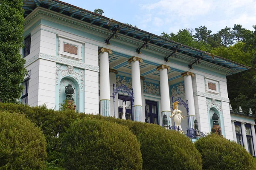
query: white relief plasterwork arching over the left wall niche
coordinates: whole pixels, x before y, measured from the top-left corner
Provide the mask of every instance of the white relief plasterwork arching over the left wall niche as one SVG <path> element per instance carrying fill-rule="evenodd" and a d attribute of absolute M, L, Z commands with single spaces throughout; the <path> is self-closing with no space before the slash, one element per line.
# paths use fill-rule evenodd
<path fill-rule="evenodd" d="M 84 71 L 79 68 L 74 68 L 72 65 L 56 64 L 56 79 L 55 83 L 58 85 L 62 77 L 73 77 L 79 83 L 81 91 L 84 87 Z"/>

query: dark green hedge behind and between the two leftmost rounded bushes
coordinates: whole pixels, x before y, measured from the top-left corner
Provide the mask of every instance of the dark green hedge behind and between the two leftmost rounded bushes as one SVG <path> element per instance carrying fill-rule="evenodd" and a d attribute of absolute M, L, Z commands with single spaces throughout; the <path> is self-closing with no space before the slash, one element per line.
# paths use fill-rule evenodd
<path fill-rule="evenodd" d="M 26 118 L 40 127 L 47 141 L 47 161 L 61 158 L 60 134 L 65 133 L 70 124 L 79 116 L 79 113 L 73 110 L 54 111 L 47 109 L 44 105 L 29 107 L 21 104 L 0 103 L 0 111 L 24 114 Z"/>

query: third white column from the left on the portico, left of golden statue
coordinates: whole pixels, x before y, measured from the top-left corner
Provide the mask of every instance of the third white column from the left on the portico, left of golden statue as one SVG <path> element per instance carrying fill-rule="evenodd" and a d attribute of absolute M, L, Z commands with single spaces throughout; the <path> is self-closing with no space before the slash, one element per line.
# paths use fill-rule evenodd
<path fill-rule="evenodd" d="M 168 125 L 172 126 L 171 121 L 171 105 L 170 105 L 170 93 L 169 93 L 169 83 L 168 83 L 168 73 L 167 70 L 171 68 L 167 65 L 160 65 L 157 67 L 157 70 L 160 71 L 160 93 L 161 93 L 161 113 L 167 116 Z"/>

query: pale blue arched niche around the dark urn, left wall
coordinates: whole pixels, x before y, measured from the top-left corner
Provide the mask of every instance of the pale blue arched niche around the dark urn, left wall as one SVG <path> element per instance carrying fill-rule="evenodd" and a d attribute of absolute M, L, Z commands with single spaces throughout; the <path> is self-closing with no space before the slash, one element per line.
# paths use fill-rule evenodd
<path fill-rule="evenodd" d="M 59 103 L 63 103 L 64 100 L 66 99 L 66 94 L 65 94 L 65 87 L 67 85 L 71 84 L 74 90 L 73 98 L 74 102 L 76 105 L 76 111 L 79 111 L 80 108 L 80 88 L 79 88 L 79 83 L 74 79 L 73 77 L 63 77 L 59 83 L 59 94 L 58 94 L 58 99 Z"/>

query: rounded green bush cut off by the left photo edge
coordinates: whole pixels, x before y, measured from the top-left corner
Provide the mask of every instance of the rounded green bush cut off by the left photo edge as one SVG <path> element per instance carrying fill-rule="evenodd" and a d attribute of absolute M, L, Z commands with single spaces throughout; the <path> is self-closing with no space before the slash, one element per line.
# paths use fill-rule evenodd
<path fill-rule="evenodd" d="M 40 129 L 21 114 L 0 111 L 0 170 L 44 169 L 45 158 Z"/>

